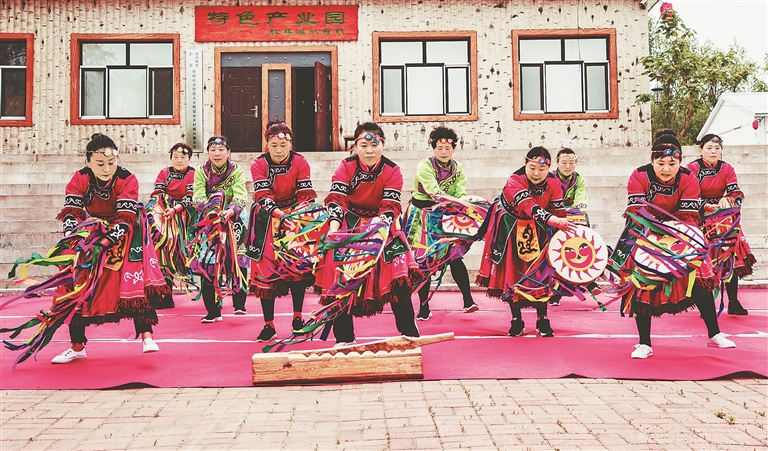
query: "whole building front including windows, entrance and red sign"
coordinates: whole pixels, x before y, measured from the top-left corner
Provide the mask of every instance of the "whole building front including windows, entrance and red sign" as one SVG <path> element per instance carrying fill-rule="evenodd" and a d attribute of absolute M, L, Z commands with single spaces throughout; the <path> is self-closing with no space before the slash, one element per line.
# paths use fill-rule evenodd
<path fill-rule="evenodd" d="M 212 134 L 258 151 L 276 118 L 301 151 L 369 120 L 391 150 L 435 125 L 477 151 L 650 144 L 638 0 L 3 3 L 5 154 L 82 153 L 97 131 L 136 153 Z"/>

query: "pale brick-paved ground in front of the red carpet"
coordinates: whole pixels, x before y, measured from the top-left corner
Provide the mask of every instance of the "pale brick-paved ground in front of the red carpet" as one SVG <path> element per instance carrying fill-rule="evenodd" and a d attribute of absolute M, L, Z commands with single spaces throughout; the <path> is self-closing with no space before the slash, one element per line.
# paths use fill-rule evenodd
<path fill-rule="evenodd" d="M 0 392 L 5 450 L 765 450 L 768 380 Z"/>

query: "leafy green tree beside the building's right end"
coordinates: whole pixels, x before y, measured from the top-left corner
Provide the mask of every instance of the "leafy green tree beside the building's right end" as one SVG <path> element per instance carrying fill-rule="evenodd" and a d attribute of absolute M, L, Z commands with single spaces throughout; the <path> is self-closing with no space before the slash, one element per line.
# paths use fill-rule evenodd
<path fill-rule="evenodd" d="M 759 77 L 768 67 L 759 67 L 737 44 L 723 51 L 709 41 L 700 43 L 673 10 L 662 13 L 655 23 L 649 20 L 648 29 L 650 55 L 640 62 L 643 74 L 662 88 L 661 103 L 651 106 L 651 125 L 654 130 L 675 130 L 683 145 L 696 142 L 721 94 L 768 87 Z M 640 94 L 636 101 L 653 101 L 653 96 Z"/>

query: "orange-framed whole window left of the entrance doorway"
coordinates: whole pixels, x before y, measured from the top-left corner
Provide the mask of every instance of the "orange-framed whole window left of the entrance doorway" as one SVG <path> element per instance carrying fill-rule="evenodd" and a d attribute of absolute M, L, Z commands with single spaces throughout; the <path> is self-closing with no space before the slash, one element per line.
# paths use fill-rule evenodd
<path fill-rule="evenodd" d="M 178 35 L 73 35 L 72 122 L 179 123 Z"/>

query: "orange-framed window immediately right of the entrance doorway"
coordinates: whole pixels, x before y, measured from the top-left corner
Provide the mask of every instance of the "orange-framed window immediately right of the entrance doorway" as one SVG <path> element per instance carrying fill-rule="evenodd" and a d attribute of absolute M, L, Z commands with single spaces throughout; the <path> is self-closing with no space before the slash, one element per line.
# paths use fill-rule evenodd
<path fill-rule="evenodd" d="M 376 32 L 373 39 L 374 120 L 477 120 L 474 32 Z"/>

